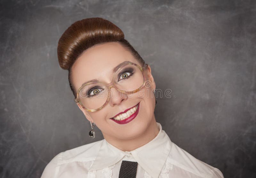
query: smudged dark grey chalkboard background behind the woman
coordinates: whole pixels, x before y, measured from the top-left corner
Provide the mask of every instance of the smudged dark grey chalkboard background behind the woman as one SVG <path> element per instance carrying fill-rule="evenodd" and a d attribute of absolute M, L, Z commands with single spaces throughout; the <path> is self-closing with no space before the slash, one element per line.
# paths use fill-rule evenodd
<path fill-rule="evenodd" d="M 0 3 L 0 177 L 40 177 L 58 153 L 103 139 L 73 102 L 57 43 L 77 20 L 119 26 L 151 66 L 171 140 L 226 178 L 256 177 L 256 1 Z M 175 97 L 176 96 L 176 97 Z"/>

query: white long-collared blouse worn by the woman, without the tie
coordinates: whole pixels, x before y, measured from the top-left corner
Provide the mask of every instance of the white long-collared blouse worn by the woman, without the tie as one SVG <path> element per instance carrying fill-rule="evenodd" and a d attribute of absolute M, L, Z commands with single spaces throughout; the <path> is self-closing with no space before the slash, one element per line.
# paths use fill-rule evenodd
<path fill-rule="evenodd" d="M 118 178 L 123 160 L 138 162 L 136 178 L 224 178 L 212 167 L 171 142 L 157 123 L 159 133 L 147 144 L 124 152 L 105 139 L 56 155 L 41 178 Z"/>

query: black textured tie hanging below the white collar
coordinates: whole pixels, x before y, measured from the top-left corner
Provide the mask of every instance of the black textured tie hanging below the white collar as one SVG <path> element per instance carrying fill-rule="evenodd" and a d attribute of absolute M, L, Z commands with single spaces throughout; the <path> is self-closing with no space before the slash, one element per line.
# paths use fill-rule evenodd
<path fill-rule="evenodd" d="M 119 178 L 136 178 L 137 165 L 137 162 L 122 161 Z"/>

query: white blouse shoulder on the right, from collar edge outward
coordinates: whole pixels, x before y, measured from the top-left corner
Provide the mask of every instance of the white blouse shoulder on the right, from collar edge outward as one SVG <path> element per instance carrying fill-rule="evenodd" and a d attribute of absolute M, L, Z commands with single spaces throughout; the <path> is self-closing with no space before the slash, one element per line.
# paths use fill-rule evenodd
<path fill-rule="evenodd" d="M 194 174 L 198 177 L 223 178 L 219 169 L 196 159 L 174 143 L 172 143 L 172 148 L 166 161 L 177 169 L 182 169 L 182 171 L 189 172 L 189 174 Z"/>

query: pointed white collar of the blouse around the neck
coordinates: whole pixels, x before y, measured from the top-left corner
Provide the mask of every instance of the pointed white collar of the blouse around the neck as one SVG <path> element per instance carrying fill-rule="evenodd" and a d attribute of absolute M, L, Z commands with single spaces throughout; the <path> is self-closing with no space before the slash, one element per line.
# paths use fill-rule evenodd
<path fill-rule="evenodd" d="M 125 155 L 129 156 L 132 154 L 133 158 L 146 172 L 153 178 L 157 178 L 171 151 L 172 142 L 162 130 L 161 124 L 156 124 L 159 128 L 156 137 L 147 144 L 130 152 L 124 152 L 103 139 L 97 157 L 89 168 L 89 171 L 112 166 Z"/>

